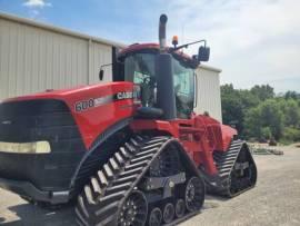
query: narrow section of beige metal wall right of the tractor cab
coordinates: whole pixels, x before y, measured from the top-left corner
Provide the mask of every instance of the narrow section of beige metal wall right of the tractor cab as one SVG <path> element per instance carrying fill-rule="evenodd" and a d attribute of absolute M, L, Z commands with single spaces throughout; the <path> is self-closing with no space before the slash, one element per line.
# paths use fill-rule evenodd
<path fill-rule="evenodd" d="M 209 67 L 197 69 L 198 101 L 194 111 L 197 114 L 208 111 L 211 117 L 222 121 L 219 72 Z"/>

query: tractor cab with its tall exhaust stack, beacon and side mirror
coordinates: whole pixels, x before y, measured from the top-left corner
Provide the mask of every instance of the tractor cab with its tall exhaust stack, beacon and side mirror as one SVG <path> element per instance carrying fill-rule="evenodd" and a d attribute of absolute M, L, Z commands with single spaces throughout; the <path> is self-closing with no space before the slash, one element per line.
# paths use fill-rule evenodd
<path fill-rule="evenodd" d="M 130 81 L 138 85 L 142 107 L 138 115 L 146 118 L 173 120 L 191 117 L 196 102 L 194 69 L 200 61 L 208 61 L 210 48 L 206 40 L 178 46 L 173 37 L 173 47 L 167 47 L 167 16 L 159 21 L 159 45 L 131 45 L 118 55 L 113 65 L 114 81 Z M 198 55 L 189 57 L 182 51 L 191 45 L 204 42 Z"/>

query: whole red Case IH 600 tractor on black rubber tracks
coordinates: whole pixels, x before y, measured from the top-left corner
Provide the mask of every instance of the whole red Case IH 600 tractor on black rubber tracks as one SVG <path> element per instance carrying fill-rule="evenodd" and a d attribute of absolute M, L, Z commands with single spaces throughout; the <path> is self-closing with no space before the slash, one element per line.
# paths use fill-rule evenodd
<path fill-rule="evenodd" d="M 18 97 L 0 105 L 0 186 L 38 204 L 77 199 L 79 225 L 173 225 L 197 214 L 206 191 L 233 197 L 257 168 L 237 131 L 196 115 L 194 69 L 166 46 L 132 45 L 113 81 Z M 103 73 L 100 73 L 102 77 Z"/>

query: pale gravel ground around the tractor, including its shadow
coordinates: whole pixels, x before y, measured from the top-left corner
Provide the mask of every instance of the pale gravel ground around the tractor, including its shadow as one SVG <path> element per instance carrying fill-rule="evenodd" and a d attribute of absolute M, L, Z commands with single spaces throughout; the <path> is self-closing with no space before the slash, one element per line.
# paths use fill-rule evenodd
<path fill-rule="evenodd" d="M 257 186 L 232 199 L 207 196 L 202 213 L 181 226 L 300 225 L 300 148 L 280 147 L 283 156 L 254 156 Z M 2 225 L 76 225 L 72 208 L 59 212 L 32 206 L 0 189 Z"/>

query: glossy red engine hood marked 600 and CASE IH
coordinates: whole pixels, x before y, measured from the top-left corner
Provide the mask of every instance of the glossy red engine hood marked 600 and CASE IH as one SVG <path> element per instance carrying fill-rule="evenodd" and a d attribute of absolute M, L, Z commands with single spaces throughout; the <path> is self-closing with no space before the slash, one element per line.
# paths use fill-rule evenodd
<path fill-rule="evenodd" d="M 133 83 L 119 81 L 16 97 L 2 104 L 33 105 L 37 100 L 44 105 L 49 100 L 64 102 L 80 130 L 86 148 L 90 149 L 103 131 L 134 115 L 137 105 L 133 98 Z"/>

